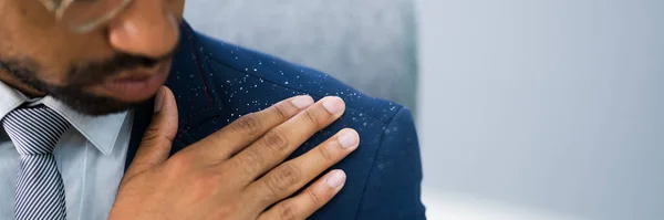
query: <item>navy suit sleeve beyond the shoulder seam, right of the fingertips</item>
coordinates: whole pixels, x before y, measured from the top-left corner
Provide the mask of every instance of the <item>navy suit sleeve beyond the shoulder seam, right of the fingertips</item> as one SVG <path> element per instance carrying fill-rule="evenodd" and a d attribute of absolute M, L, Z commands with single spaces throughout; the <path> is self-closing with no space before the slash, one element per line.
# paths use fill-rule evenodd
<path fill-rule="evenodd" d="M 383 132 L 356 219 L 426 219 L 421 184 L 417 133 L 411 112 L 402 108 Z"/>

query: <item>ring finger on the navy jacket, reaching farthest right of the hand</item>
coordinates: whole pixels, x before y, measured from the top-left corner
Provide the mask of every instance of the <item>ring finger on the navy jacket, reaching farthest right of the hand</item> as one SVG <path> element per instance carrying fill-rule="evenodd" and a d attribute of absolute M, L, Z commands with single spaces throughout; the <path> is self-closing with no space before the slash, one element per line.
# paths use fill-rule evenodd
<path fill-rule="evenodd" d="M 272 205 L 319 176 L 357 148 L 360 136 L 353 129 L 343 129 L 307 154 L 287 161 L 247 188 L 247 193 L 260 198 L 260 205 Z"/>

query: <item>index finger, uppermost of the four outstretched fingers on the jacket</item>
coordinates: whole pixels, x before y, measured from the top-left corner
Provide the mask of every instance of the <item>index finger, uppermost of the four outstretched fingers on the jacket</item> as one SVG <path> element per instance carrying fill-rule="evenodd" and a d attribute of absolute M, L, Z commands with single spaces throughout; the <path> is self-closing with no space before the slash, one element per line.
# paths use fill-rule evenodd
<path fill-rule="evenodd" d="M 221 130 L 183 150 L 207 163 L 219 163 L 256 142 L 269 129 L 282 124 L 313 104 L 309 95 L 291 97 L 271 107 L 240 117 Z"/>

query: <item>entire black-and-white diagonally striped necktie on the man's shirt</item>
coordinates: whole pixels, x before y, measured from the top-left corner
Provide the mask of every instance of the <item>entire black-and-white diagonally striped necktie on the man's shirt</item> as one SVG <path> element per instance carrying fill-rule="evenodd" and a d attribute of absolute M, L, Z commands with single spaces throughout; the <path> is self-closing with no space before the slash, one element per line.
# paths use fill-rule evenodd
<path fill-rule="evenodd" d="M 45 106 L 18 108 L 2 126 L 21 158 L 17 181 L 17 220 L 65 220 L 64 184 L 53 149 L 70 124 Z"/>

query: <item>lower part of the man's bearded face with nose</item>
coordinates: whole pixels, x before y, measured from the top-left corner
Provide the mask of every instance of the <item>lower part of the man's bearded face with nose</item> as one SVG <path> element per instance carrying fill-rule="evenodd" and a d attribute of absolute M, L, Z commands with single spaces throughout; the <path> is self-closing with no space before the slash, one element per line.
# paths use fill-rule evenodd
<path fill-rule="evenodd" d="M 0 1 L 0 63 L 9 66 L 0 69 L 0 80 L 30 96 L 52 95 L 83 113 L 124 111 L 154 96 L 158 87 L 120 96 L 101 84 L 157 65 L 168 70 L 184 4 L 134 1 L 118 17 L 81 34 L 58 22 L 37 0 Z M 143 65 L 144 60 L 152 63 Z M 92 109 L 76 98 L 103 107 Z"/>

